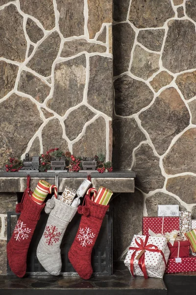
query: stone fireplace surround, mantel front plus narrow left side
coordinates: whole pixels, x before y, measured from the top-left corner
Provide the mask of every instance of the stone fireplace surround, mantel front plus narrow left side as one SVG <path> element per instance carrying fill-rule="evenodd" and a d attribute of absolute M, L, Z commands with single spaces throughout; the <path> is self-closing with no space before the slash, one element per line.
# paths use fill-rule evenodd
<path fill-rule="evenodd" d="M 87 178 L 86 172 L 65 173 L 65 172 L 0 172 L 0 274 L 6 274 L 6 243 L 7 243 L 7 211 L 15 211 L 17 197 L 26 188 L 26 176 L 30 175 L 30 188 L 33 191 L 40 178 L 55 184 L 55 175 L 59 176 L 59 193 L 62 193 L 67 185 L 74 189 Z M 135 173 L 130 171 L 120 171 L 113 173 L 99 174 L 92 172 L 92 186 L 97 188 L 102 185 L 113 190 L 114 193 L 134 192 Z"/>

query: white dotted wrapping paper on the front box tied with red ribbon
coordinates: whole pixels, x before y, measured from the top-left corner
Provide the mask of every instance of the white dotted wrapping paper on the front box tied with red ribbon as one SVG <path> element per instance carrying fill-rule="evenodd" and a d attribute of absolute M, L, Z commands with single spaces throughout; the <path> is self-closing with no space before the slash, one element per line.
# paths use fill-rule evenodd
<path fill-rule="evenodd" d="M 132 242 L 131 242 L 131 247 L 138 247 L 137 244 L 135 243 L 135 238 L 136 237 L 141 237 L 143 241 L 145 241 L 146 236 L 137 236 L 134 235 Z M 169 255 L 170 255 L 170 250 L 167 245 L 167 240 L 165 237 L 156 237 L 156 236 L 149 236 L 148 237 L 148 244 L 153 244 L 157 246 L 160 250 L 163 251 L 166 263 L 168 262 Z M 130 260 L 131 260 L 131 255 L 133 254 L 134 250 L 128 250 L 126 258 L 124 260 L 125 266 L 128 267 L 130 270 Z M 139 275 L 139 276 L 144 276 L 142 270 L 140 269 L 140 266 L 138 265 L 138 260 L 136 259 L 137 255 L 141 251 L 136 252 L 136 256 L 134 259 L 134 275 Z M 152 277 L 152 278 L 163 278 L 163 274 L 165 272 L 165 262 L 163 260 L 163 257 L 161 253 L 158 252 L 145 252 L 145 266 L 147 268 L 147 276 Z"/>

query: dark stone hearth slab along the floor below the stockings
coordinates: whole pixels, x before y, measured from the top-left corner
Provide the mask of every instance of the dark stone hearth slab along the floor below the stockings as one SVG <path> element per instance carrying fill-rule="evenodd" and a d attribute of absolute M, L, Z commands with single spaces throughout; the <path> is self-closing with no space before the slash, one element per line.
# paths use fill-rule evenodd
<path fill-rule="evenodd" d="M 79 276 L 36 275 L 17 278 L 0 276 L 2 295 L 167 295 L 162 279 L 135 277 L 125 266 L 114 270 L 112 276 L 92 276 L 82 280 Z"/>

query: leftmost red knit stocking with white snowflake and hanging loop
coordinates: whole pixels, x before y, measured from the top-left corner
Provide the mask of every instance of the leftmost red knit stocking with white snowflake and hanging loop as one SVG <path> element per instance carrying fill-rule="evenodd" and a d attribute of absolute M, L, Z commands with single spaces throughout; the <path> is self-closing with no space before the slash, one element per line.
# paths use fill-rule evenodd
<path fill-rule="evenodd" d="M 27 177 L 27 188 L 24 192 L 22 202 L 17 204 L 16 212 L 22 212 L 10 241 L 7 244 L 7 259 L 11 270 L 19 277 L 26 272 L 26 255 L 33 236 L 35 227 L 40 218 L 40 213 L 45 207 L 38 205 L 31 198 L 29 189 L 30 177 Z"/>

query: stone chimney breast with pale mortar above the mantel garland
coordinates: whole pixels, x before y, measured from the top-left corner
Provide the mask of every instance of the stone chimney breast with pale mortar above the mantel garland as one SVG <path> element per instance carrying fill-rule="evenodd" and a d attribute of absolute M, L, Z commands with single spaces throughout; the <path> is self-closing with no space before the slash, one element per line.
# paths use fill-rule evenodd
<path fill-rule="evenodd" d="M 0 0 L 0 167 L 59 147 L 111 159 L 112 0 Z"/>

